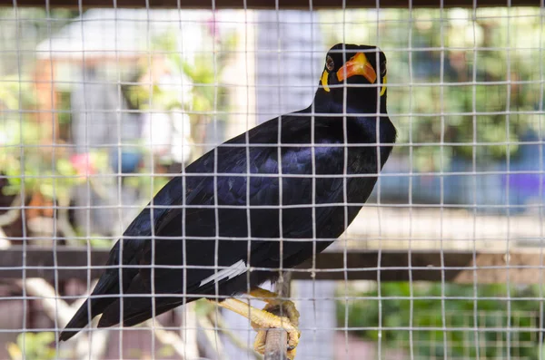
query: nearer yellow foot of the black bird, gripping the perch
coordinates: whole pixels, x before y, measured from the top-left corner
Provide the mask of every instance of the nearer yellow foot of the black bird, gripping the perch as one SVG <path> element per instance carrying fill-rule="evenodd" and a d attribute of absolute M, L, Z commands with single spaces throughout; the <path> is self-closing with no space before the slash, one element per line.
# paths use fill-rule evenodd
<path fill-rule="evenodd" d="M 253 348 L 255 351 L 263 355 L 265 352 L 267 330 L 272 328 L 282 328 L 288 333 L 287 355 L 288 358 L 292 360 L 295 357 L 296 347 L 299 344 L 299 337 L 301 336 L 301 332 L 297 328 L 297 324 L 299 323 L 299 312 L 297 309 L 295 309 L 295 306 L 291 301 L 285 301 L 285 303 L 290 303 L 291 306 L 287 306 L 287 308 L 283 309 L 283 306 L 280 304 L 267 304 L 267 306 L 261 310 L 263 311 L 263 313 L 260 314 L 262 316 L 260 316 L 259 319 L 252 319 L 252 326 L 257 331 L 257 336 L 255 336 L 255 341 L 253 342 Z M 277 316 L 271 313 L 271 311 L 278 310 L 281 307 L 288 317 Z M 288 308 L 290 308 L 290 310 L 288 310 Z M 292 323 L 290 314 L 295 320 L 296 324 Z"/>

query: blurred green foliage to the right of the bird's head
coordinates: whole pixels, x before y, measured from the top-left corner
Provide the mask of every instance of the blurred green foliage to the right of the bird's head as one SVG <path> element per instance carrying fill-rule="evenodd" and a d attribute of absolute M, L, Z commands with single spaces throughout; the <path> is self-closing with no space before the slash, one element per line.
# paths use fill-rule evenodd
<path fill-rule="evenodd" d="M 323 16 L 330 24 L 344 24 L 342 32 L 328 32 L 329 44 L 345 39 L 381 46 L 388 56 L 389 112 L 407 114 L 394 119 L 398 142 L 415 144 L 415 170 L 439 170 L 454 157 L 471 161 L 474 151 L 481 164 L 517 155 L 516 145 L 504 143 L 539 130 L 540 115 L 528 113 L 543 101 L 538 85 L 543 59 L 532 50 L 543 45 L 539 12 L 391 9 Z M 474 141 L 481 144 L 476 149 Z M 441 148 L 428 145 L 441 142 L 449 145 L 439 161 Z"/>

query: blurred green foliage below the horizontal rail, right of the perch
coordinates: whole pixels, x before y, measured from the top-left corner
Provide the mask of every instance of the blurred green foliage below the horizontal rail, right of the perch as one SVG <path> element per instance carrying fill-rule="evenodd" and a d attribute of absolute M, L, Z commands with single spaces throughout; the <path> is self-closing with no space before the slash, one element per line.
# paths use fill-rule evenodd
<path fill-rule="evenodd" d="M 421 358 L 477 358 L 479 351 L 480 358 L 504 358 L 509 352 L 517 358 L 538 359 L 540 301 L 517 298 L 536 294 L 532 287 L 510 288 L 508 316 L 508 301 L 498 299 L 508 296 L 503 285 L 481 285 L 474 294 L 473 287 L 466 285 L 446 284 L 443 289 L 441 284 L 382 283 L 380 302 L 378 289 L 354 292 L 348 297 L 369 299 L 350 300 L 348 306 L 339 301 L 337 318 L 344 326 L 347 311 L 349 329 L 359 329 L 354 334 L 373 341 L 381 336 L 383 345 L 407 351 L 412 342 L 413 354 Z M 510 332 L 510 347 L 508 325 L 516 330 Z M 478 333 L 473 330 L 477 327 Z"/>

